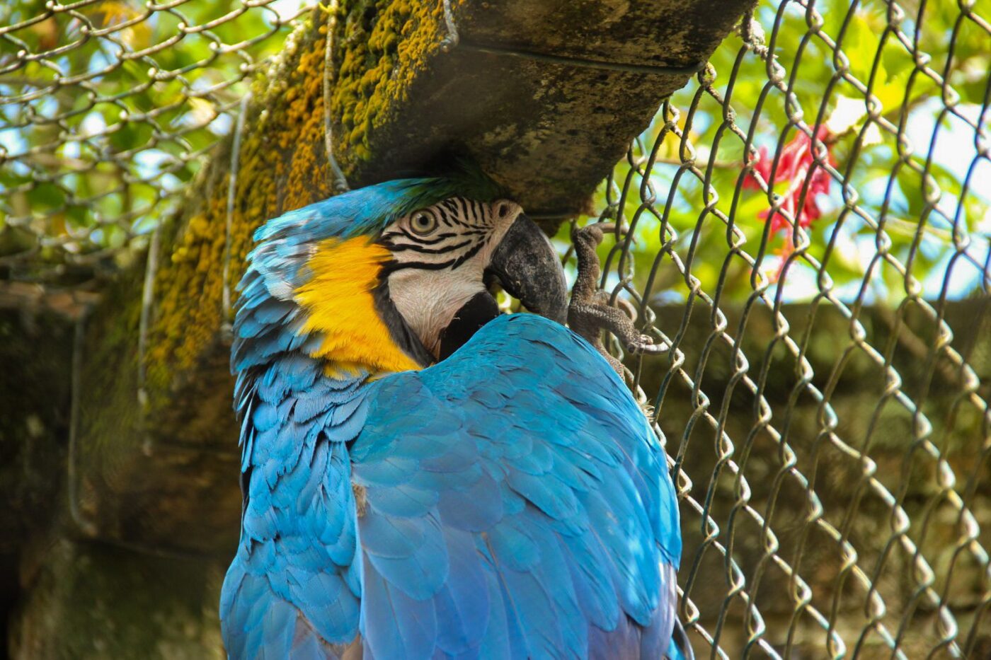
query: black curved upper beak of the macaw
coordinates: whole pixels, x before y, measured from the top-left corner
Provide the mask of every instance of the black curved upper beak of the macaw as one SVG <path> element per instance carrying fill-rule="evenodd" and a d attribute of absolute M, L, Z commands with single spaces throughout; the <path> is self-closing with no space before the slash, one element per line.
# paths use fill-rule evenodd
<path fill-rule="evenodd" d="M 564 324 L 568 289 L 561 260 L 537 224 L 520 213 L 495 248 L 486 275 L 535 314 Z"/>

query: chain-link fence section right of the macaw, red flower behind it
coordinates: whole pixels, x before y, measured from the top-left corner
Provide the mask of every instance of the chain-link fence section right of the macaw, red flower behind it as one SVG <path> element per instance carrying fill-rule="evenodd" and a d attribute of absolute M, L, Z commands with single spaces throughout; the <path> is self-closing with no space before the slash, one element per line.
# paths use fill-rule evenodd
<path fill-rule="evenodd" d="M 989 43 L 762 3 L 606 182 L 714 655 L 991 657 Z"/>

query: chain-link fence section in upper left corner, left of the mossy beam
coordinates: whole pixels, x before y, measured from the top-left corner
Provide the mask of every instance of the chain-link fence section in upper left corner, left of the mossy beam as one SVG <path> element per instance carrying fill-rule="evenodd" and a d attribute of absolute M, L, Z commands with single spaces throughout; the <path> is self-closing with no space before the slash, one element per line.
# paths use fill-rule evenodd
<path fill-rule="evenodd" d="M 286 11 L 286 5 L 289 11 Z M 147 244 L 300 3 L 0 7 L 0 269 L 78 283 Z"/>

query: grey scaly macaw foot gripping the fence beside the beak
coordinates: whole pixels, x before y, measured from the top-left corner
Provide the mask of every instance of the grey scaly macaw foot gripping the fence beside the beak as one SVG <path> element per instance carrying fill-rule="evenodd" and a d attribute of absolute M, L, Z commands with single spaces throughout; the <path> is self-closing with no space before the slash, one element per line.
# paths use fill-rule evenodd
<path fill-rule="evenodd" d="M 622 363 L 609 355 L 603 343 L 603 330 L 607 330 L 622 342 L 627 352 L 633 354 L 663 353 L 666 347 L 654 344 L 652 337 L 640 334 L 633 325 L 635 311 L 629 315 L 618 307 L 609 304 L 609 295 L 599 288 L 599 255 L 596 248 L 603 242 L 603 229 L 611 225 L 597 223 L 571 233 L 578 259 L 578 277 L 571 290 L 571 305 L 568 307 L 568 325 L 599 351 L 608 363 L 625 381 L 629 381 Z"/>

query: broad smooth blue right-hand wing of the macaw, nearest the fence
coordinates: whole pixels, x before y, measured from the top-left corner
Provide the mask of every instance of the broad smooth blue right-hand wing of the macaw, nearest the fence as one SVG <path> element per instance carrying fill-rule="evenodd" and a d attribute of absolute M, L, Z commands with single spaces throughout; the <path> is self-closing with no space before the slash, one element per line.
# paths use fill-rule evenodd
<path fill-rule="evenodd" d="M 606 362 L 561 326 L 499 318 L 447 361 L 383 379 L 351 459 L 369 502 L 366 580 L 384 597 L 412 595 L 401 615 L 436 618 L 432 645 L 416 637 L 402 657 L 635 656 L 667 639 L 657 626 L 673 620 L 674 574 L 661 561 L 680 545 L 668 538 L 677 510 L 662 450 Z M 442 525 L 441 545 L 429 557 L 376 554 L 369 534 L 396 515 Z M 455 543 L 454 530 L 475 543 Z M 484 579 L 451 568 L 437 582 L 427 571 L 441 558 L 474 562 Z M 485 625 L 479 613 L 464 623 L 452 594 L 465 583 L 488 601 L 476 610 Z M 363 595 L 367 616 L 381 614 L 377 593 Z M 364 620 L 363 639 L 385 657 L 379 637 L 402 638 L 406 623 Z"/>

